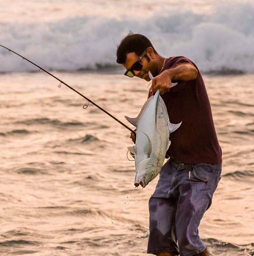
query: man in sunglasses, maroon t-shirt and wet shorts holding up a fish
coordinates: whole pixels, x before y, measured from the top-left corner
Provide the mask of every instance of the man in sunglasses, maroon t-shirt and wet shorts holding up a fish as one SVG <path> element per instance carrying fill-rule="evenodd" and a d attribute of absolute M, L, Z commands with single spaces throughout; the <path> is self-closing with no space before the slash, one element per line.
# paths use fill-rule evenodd
<path fill-rule="evenodd" d="M 183 56 L 160 56 L 141 34 L 128 34 L 116 55 L 127 76 L 150 81 L 150 71 L 154 79 L 148 97 L 160 90 L 170 122 L 182 121 L 170 134 L 170 158 L 149 200 L 147 252 L 157 256 L 179 252 L 181 256 L 209 255 L 198 226 L 221 179 L 222 152 L 201 73 Z M 171 83 L 177 85 L 171 88 Z M 131 138 L 135 143 L 133 133 Z"/>

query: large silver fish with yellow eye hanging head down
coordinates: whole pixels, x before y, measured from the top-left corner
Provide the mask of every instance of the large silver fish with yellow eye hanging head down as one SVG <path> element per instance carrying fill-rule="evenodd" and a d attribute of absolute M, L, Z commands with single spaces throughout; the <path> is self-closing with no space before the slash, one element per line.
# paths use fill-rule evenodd
<path fill-rule="evenodd" d="M 159 93 L 158 90 L 146 101 L 136 118 L 125 116 L 137 127 L 136 145 L 128 147 L 135 155 L 136 187 L 141 185 L 145 188 L 159 174 L 171 143 L 169 135 L 182 123 L 170 123 L 166 105 Z"/>

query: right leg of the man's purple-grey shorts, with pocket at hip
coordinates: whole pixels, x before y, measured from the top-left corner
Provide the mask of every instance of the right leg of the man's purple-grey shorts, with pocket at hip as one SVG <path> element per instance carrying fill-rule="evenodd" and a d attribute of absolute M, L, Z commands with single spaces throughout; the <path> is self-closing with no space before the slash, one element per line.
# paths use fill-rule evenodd
<path fill-rule="evenodd" d="M 198 235 L 198 226 L 212 203 L 221 169 L 211 164 L 196 164 L 178 173 L 173 194 L 178 197 L 176 235 L 180 255 L 207 256 L 208 251 Z"/>

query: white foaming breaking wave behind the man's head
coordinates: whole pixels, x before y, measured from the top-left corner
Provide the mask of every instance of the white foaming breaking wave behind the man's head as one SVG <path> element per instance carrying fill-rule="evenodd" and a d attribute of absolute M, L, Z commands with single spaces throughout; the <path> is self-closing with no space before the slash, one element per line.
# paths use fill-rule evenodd
<path fill-rule="evenodd" d="M 183 55 L 201 71 L 254 72 L 254 6 L 220 4 L 210 15 L 167 8 L 152 17 L 79 16 L 51 22 L 0 23 L 0 44 L 55 70 L 118 65 L 116 47 L 129 30 L 145 34 L 163 56 Z M 0 49 L 0 71 L 34 66 Z"/>

